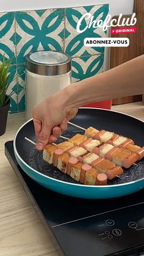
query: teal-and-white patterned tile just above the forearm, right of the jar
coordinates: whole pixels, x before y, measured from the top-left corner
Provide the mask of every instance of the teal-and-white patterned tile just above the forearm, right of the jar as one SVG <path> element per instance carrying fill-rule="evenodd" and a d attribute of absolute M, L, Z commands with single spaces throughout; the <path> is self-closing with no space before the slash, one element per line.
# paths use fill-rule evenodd
<path fill-rule="evenodd" d="M 83 80 L 103 72 L 104 54 L 74 57 L 72 60 L 72 82 Z"/>

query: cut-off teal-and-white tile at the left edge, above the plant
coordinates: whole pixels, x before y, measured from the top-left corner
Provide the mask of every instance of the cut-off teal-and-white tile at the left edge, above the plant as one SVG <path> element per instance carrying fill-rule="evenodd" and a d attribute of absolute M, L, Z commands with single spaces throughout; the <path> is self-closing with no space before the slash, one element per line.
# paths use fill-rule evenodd
<path fill-rule="evenodd" d="M 11 40 L 10 38 L 13 38 Z M 15 13 L 0 13 L 0 60 L 12 59 L 12 64 L 16 63 L 15 55 Z"/>

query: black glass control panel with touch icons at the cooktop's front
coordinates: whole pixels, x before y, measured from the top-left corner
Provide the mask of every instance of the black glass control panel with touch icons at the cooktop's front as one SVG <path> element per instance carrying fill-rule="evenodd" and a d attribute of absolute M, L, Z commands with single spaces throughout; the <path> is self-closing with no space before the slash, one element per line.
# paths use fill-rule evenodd
<path fill-rule="evenodd" d="M 101 256 L 128 250 L 144 244 L 144 203 L 55 225 L 52 230 L 65 251 L 71 251 L 69 241 L 73 241 L 73 253 L 68 254 L 71 256 L 88 252 L 90 256 Z"/>

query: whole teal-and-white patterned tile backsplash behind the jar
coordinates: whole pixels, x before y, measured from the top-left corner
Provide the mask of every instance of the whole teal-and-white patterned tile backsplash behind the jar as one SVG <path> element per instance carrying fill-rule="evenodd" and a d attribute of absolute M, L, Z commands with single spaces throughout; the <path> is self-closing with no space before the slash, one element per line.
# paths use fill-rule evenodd
<path fill-rule="evenodd" d="M 24 62 L 30 51 L 52 49 L 70 54 L 72 81 L 103 71 L 104 48 L 86 48 L 84 38 L 106 37 L 105 32 L 93 27 L 82 34 L 76 31 L 77 21 L 86 12 L 104 20 L 109 5 L 0 13 L 0 60 L 5 54 L 7 59 L 12 58 L 13 64 L 9 92 L 15 93 L 10 98 L 10 112 L 24 111 Z"/>

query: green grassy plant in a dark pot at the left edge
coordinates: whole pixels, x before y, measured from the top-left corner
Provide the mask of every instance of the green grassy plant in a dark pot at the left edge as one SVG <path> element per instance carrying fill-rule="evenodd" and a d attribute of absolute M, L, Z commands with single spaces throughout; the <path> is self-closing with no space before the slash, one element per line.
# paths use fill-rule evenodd
<path fill-rule="evenodd" d="M 11 92 L 7 95 L 10 65 L 10 60 L 3 59 L 0 63 L 0 136 L 5 133 L 7 114 L 10 108 L 10 96 L 14 93 Z"/>

